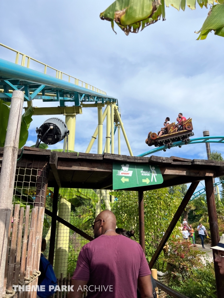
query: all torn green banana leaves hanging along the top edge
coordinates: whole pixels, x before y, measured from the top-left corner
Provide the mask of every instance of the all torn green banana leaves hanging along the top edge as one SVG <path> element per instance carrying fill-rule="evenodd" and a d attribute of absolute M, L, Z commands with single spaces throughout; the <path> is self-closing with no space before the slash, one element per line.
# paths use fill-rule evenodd
<path fill-rule="evenodd" d="M 224 36 L 224 4 L 223 0 L 197 0 L 202 8 L 213 5 L 208 13 L 201 30 L 199 39 L 205 39 L 211 30 L 215 35 Z M 214 2 L 217 4 L 214 5 Z M 114 30 L 114 22 L 128 35 L 130 32 L 137 33 L 140 28 L 154 24 L 159 19 L 165 20 L 165 6 L 173 6 L 177 10 L 185 10 L 188 6 L 191 10 L 196 9 L 196 0 L 116 0 L 104 12 L 100 14 L 102 20 L 111 22 Z"/>

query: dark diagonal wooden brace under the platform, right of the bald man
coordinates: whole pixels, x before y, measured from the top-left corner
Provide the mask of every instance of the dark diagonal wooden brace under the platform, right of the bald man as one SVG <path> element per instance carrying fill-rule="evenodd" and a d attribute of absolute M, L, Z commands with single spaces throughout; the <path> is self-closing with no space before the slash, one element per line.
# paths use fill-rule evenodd
<path fill-rule="evenodd" d="M 151 269 L 154 264 L 156 263 L 159 254 L 162 252 L 162 249 L 169 239 L 171 233 L 173 232 L 174 227 L 176 226 L 177 222 L 179 221 L 179 218 L 181 214 L 183 213 L 185 207 L 187 206 L 188 202 L 190 201 L 191 196 L 193 195 L 194 191 L 196 190 L 196 187 L 198 186 L 199 181 L 192 182 L 190 187 L 188 188 L 187 193 L 185 194 L 180 206 L 177 209 L 177 212 L 174 215 L 174 218 L 171 220 L 171 223 L 168 226 L 168 229 L 166 230 L 164 236 L 162 237 L 162 240 L 160 241 L 157 250 L 154 252 L 154 255 L 151 258 L 151 261 L 149 263 L 149 268 Z"/>

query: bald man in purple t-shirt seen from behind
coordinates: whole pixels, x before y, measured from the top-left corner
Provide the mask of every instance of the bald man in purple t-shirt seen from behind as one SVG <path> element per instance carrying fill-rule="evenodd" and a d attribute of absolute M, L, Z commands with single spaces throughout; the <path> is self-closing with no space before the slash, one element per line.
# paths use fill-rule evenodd
<path fill-rule="evenodd" d="M 153 298 L 151 271 L 139 243 L 115 232 L 116 217 L 104 210 L 92 224 L 94 240 L 85 244 L 68 298 Z"/>

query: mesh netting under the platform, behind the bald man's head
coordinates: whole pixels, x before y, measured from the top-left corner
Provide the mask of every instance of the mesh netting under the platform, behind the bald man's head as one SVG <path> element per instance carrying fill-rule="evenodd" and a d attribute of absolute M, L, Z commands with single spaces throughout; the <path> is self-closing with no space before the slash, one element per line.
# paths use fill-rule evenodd
<path fill-rule="evenodd" d="M 46 208 L 52 208 L 53 189 L 47 190 Z M 73 274 L 82 246 L 89 242 L 81 232 L 94 237 L 91 224 L 102 210 L 111 210 L 117 218 L 117 227 L 134 230 L 138 239 L 138 193 L 127 191 L 59 189 L 57 215 L 76 227 L 76 231 L 57 222 L 54 271 Z M 134 215 L 134 216 L 133 216 Z M 45 257 L 49 254 L 51 218 L 45 216 L 43 237 L 47 240 Z"/>

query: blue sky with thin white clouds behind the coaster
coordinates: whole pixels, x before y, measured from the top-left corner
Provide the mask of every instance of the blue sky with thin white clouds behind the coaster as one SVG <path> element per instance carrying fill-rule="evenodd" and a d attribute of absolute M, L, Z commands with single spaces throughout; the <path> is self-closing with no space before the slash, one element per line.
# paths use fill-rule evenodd
<path fill-rule="evenodd" d="M 1 10 L 6 13 L 1 15 L 0 42 L 118 98 L 134 155 L 152 149 L 145 144 L 148 132 L 157 132 L 166 117 L 175 121 L 179 112 L 192 117 L 195 137 L 203 136 L 205 128 L 210 135 L 223 135 L 224 38 L 212 32 L 206 40 L 196 41 L 194 33 L 202 27 L 209 9 L 197 4 L 196 10 L 187 7 L 178 12 L 168 7 L 165 21 L 126 36 L 116 24 L 117 34 L 110 22 L 99 18 L 111 3 L 2 1 Z M 0 47 L 0 57 L 14 62 L 15 53 Z M 52 104 L 35 100 L 33 105 Z M 97 126 L 97 109 L 82 111 L 76 117 L 78 152 L 85 152 Z M 27 145 L 36 143 L 35 129 L 47 118 L 33 116 Z M 61 142 L 51 148 L 62 146 Z M 222 144 L 211 143 L 211 150 L 224 154 Z M 97 144 L 91 153 L 97 153 Z M 121 153 L 129 155 L 123 137 Z M 207 159 L 205 144 L 184 145 L 154 155 Z"/>

